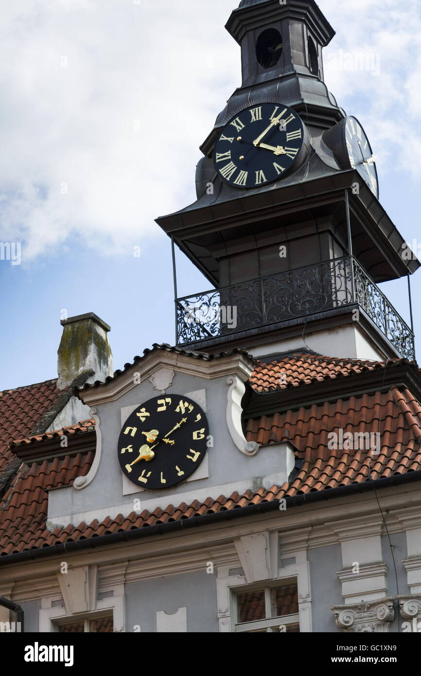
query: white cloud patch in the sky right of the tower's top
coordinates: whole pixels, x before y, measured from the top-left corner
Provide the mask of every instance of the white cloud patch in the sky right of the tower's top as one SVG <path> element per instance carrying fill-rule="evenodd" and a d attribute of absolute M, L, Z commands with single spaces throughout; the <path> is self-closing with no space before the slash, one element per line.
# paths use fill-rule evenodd
<path fill-rule="evenodd" d="M 326 84 L 347 114 L 360 118 L 388 170 L 421 178 L 421 162 L 408 162 L 408 146 L 421 145 L 421 15 L 417 0 L 320 0 L 320 9 L 337 30 L 325 49 Z M 337 70 L 339 51 L 368 54 L 380 64 L 370 70 Z M 347 110 L 360 100 L 360 111 Z M 416 155 L 416 153 L 414 153 Z M 386 166 L 385 164 L 383 166 Z"/>

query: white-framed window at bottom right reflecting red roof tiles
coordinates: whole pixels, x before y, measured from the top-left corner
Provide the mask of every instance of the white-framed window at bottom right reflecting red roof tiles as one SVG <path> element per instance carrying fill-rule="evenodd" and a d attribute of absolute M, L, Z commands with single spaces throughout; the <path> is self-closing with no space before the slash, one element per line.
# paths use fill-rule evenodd
<path fill-rule="evenodd" d="M 235 631 L 299 632 L 297 580 L 235 594 Z"/>

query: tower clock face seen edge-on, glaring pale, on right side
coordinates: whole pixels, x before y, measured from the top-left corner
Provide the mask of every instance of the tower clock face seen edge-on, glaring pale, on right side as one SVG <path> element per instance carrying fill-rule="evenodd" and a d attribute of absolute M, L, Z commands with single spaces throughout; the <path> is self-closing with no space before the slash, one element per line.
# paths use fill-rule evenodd
<path fill-rule="evenodd" d="M 345 120 L 345 143 L 351 168 L 357 170 L 374 195 L 378 197 L 375 158 L 364 129 L 356 118 L 348 117 Z"/>

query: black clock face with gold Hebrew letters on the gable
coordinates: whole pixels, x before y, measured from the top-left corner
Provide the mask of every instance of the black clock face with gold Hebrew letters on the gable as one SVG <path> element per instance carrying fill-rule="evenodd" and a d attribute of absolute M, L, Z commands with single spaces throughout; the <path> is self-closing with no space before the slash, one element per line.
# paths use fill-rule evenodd
<path fill-rule="evenodd" d="M 120 467 L 140 488 L 174 486 L 193 474 L 205 457 L 208 431 L 203 410 L 189 397 L 150 399 L 123 425 Z"/>

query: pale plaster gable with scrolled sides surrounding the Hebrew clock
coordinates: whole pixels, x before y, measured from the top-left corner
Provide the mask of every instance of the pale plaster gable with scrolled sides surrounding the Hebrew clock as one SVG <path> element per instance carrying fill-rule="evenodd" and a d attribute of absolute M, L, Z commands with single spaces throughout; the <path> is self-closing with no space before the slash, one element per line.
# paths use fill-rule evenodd
<path fill-rule="evenodd" d="M 48 527 L 91 523 L 95 518 L 103 521 L 107 516 L 203 502 L 287 482 L 295 464 L 291 444 L 259 448 L 244 437 L 241 398 L 252 370 L 253 361 L 242 352 L 205 360 L 157 349 L 106 385 L 82 391 L 83 402 L 94 407 L 90 414 L 96 423 L 95 460 L 86 477 L 77 477 L 71 487 L 49 491 Z M 142 485 L 141 490 L 122 478 L 118 437 L 134 408 L 157 396 L 155 386 L 166 386 L 168 397 L 188 396 L 205 410 L 209 445 L 189 481 L 160 490 Z"/>

